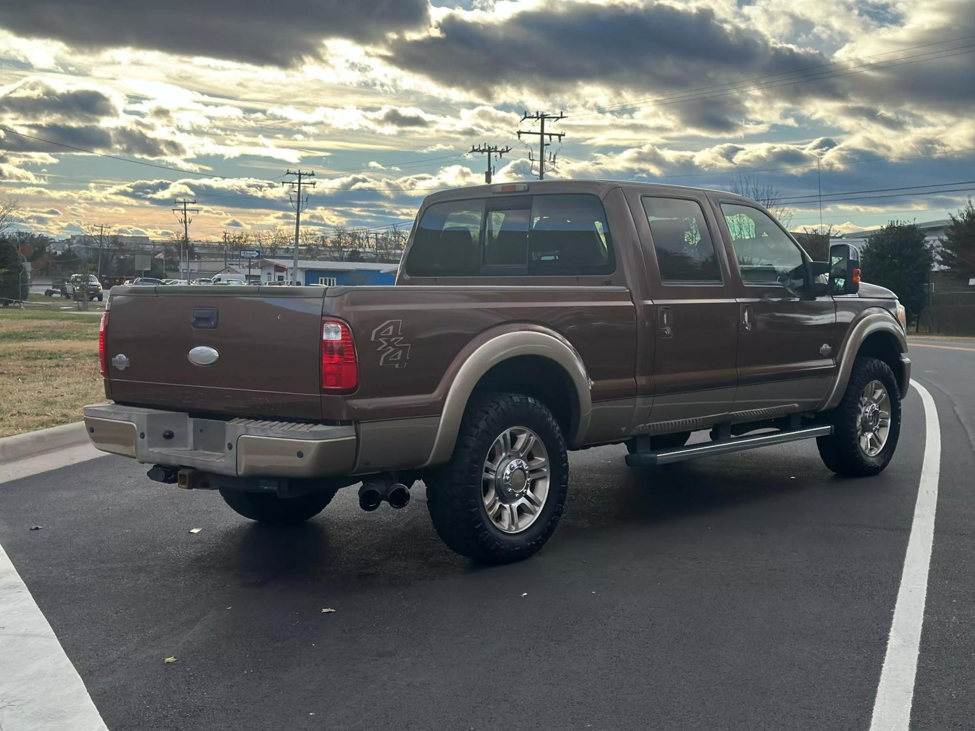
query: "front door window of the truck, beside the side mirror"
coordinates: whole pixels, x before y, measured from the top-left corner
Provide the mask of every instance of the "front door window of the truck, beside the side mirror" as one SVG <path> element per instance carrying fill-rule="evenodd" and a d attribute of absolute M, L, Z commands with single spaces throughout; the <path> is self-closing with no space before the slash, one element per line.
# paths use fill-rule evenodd
<path fill-rule="evenodd" d="M 802 252 L 766 213 L 722 203 L 724 221 L 746 284 L 779 284 L 799 289 L 805 279 Z"/>

